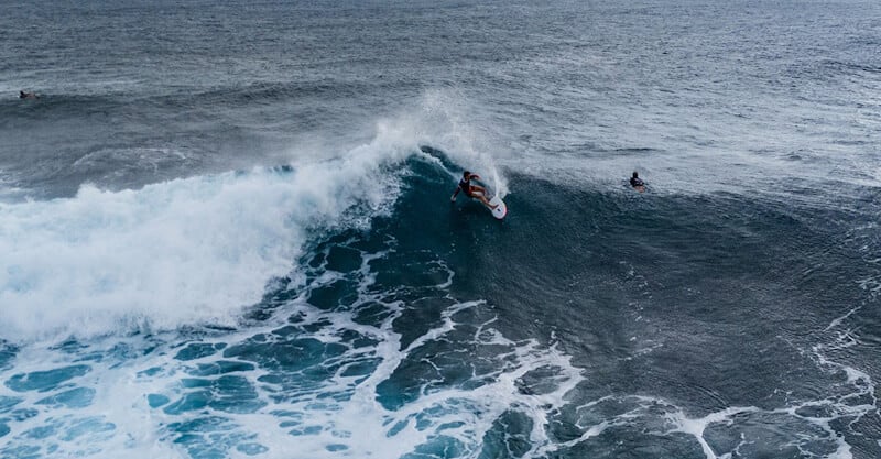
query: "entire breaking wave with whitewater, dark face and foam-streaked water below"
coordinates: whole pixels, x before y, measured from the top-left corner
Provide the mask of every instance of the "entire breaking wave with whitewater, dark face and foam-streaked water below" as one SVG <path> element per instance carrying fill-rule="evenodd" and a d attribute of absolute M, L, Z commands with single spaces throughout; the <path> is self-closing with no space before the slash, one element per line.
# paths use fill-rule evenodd
<path fill-rule="evenodd" d="M 850 351 L 852 316 L 878 294 L 871 260 L 852 264 L 857 233 L 835 236 L 816 209 L 773 201 L 637 197 L 523 175 L 508 178 L 520 193 L 499 222 L 479 204 L 448 201 L 457 165 L 444 152 L 377 151 L 354 153 L 351 168 L 85 188 L 4 208 L 68 223 L 26 231 L 23 217 L 4 219 L 41 242 L 19 260 L 56 262 L 20 262 L 4 278 L 22 307 L 3 328 L 23 340 L 0 353 L 0 452 L 851 458 L 877 448 L 867 441 L 875 382 L 861 370 L 871 363 Z M 328 187 L 337 200 L 316 194 Z M 101 211 L 79 210 L 88 206 Z M 831 221 L 838 210 L 827 211 Z M 138 282 L 70 255 L 106 248 L 105 260 L 128 262 L 134 239 L 120 229 L 142 226 L 197 249 L 175 265 L 163 258 L 180 249 L 138 244 L 150 248 L 135 252 L 138 269 L 118 270 Z M 138 288 L 175 275 L 186 281 Z M 815 303 L 824 307 L 806 315 Z"/>

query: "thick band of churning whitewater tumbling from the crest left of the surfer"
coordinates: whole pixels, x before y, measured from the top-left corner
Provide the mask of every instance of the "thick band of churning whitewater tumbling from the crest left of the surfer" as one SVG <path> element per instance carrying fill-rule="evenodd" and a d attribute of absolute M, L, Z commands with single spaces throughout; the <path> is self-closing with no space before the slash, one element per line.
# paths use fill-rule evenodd
<path fill-rule="evenodd" d="M 415 147 L 381 128 L 372 143 L 293 172 L 84 186 L 72 198 L 0 205 L 2 338 L 231 324 L 294 267 L 309 228 L 383 211 L 399 185 L 383 167 Z"/>

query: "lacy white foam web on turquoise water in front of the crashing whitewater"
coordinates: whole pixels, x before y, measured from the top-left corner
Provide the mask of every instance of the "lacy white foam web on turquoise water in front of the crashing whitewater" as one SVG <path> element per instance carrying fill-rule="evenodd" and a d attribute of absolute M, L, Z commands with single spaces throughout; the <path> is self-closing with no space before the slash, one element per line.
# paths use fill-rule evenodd
<path fill-rule="evenodd" d="M 254 337 L 264 337 L 254 341 L 258 343 L 314 339 L 345 347 L 342 354 L 307 357 L 320 358 L 314 369 L 336 368 L 327 378 L 311 380 L 308 373 L 313 370 L 306 368 L 303 374 L 293 375 L 297 383 L 285 389 L 279 376 L 286 370 L 272 364 L 253 364 L 253 360 L 224 356 L 222 352 L 178 359 L 175 356 L 186 341 L 181 342 L 173 332 L 154 336 L 149 341 L 138 336 L 105 337 L 79 342 L 67 350 L 32 345 L 20 351 L 19 359 L 23 361 L 15 364 L 15 374 L 65 368 L 72 361 L 88 365 L 88 370 L 44 392 L 0 386 L 0 396 L 22 398 L 20 406 L 36 407 L 31 417 L 10 423 L 11 431 L 6 439 L 12 449 L 3 451 L 43 448 L 42 452 L 54 451 L 48 456 L 58 457 L 183 458 L 211 450 L 229 458 L 274 459 L 292 455 L 396 458 L 428 445 L 435 450 L 438 445 L 440 448 L 449 445 L 453 449 L 445 452 L 448 457 L 476 458 L 481 455 L 487 433 L 511 411 L 532 423 L 525 433 L 520 434 L 531 445 L 526 457 L 546 451 L 553 444 L 546 431 L 547 416 L 567 403 L 565 395 L 583 381 L 580 370 L 553 346 L 548 348 L 535 340 L 515 342 L 505 338 L 492 328 L 496 321 L 492 317 L 485 318 L 482 325 L 477 326 L 459 321 L 459 315 L 471 315 L 485 308 L 481 300 L 452 302 L 425 334 L 402 347 L 401 335 L 394 330 L 393 324 L 411 306 L 387 299 L 388 293 L 370 293 L 376 281 L 370 262 L 387 253 L 362 253 L 361 266 L 352 273 L 320 269 L 327 275 L 313 278 L 302 295 L 281 308 L 276 313 L 279 320 L 197 339 L 202 345 L 216 346 L 215 349 L 242 345 Z M 436 263 L 426 262 L 428 265 Z M 447 277 L 452 275 L 449 272 Z M 323 288 L 340 278 L 358 282 L 359 298 L 352 305 L 339 310 L 325 310 L 306 303 L 308 291 Z M 431 288 L 439 288 L 437 292 L 443 294 L 444 287 Z M 384 319 L 371 324 L 354 319 L 361 306 L 377 302 L 390 313 Z M 286 328 L 284 323 L 289 316 L 298 317 L 300 331 L 275 334 L 280 327 Z M 460 328 L 471 331 L 461 334 Z M 374 340 L 376 345 L 352 346 L 352 335 Z M 487 347 L 498 352 L 481 353 L 478 360 L 490 363 L 490 368 L 485 369 L 485 373 L 472 374 L 469 386 L 421 381 L 423 385 L 415 400 L 405 397 L 400 406 L 394 407 L 380 402 L 380 384 L 393 380 L 401 365 L 420 361 L 420 356 L 425 356 L 421 352 L 440 350 L 443 343 L 450 340 L 456 342 L 449 350 L 454 354 L 459 347 Z M 275 345 L 285 347 L 284 342 Z M 248 409 L 248 401 L 244 401 L 241 409 L 209 406 L 183 412 L 166 409 L 199 392 L 198 385 L 186 384 L 185 380 L 209 382 L 221 376 L 210 373 L 197 376 L 193 374 L 195 369 L 217 365 L 221 361 L 253 364 L 250 370 L 243 367 L 226 375 L 246 380 L 255 391 L 254 401 L 262 407 Z M 348 368 L 368 361 L 376 362 L 369 373 L 347 373 Z M 552 383 L 551 387 L 524 393 L 521 380 L 529 372 L 541 369 L 554 370 L 553 375 L 543 381 L 543 384 Z M 10 376 L 2 373 L 0 371 L 4 379 Z M 306 383 L 302 387 L 300 378 Z M 85 409 L 39 403 L 70 387 L 94 387 L 94 395 L 86 402 Z M 150 406 L 151 394 L 165 396 L 170 402 Z M 235 398 L 237 393 L 220 391 L 204 396 Z M 83 427 L 84 419 L 91 422 Z M 182 427 L 187 423 L 194 424 Z M 54 426 L 53 430 L 41 430 L 46 425 Z M 595 431 L 598 435 L 601 429 Z M 43 437 L 36 438 L 39 435 Z M 195 446 L 195 451 L 187 449 L 186 441 L 178 441 L 194 438 L 204 441 Z"/>

